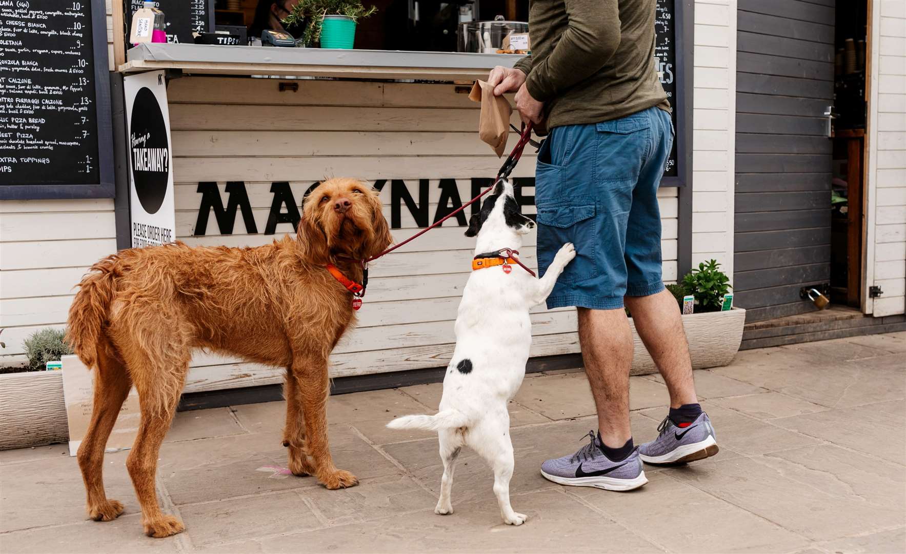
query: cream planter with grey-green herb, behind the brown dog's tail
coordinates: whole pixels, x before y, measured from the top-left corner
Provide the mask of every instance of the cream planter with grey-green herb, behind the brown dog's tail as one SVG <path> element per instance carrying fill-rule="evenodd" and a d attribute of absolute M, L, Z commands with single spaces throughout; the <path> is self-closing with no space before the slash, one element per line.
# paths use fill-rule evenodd
<path fill-rule="evenodd" d="M 23 341 L 27 364 L 0 368 L 0 450 L 65 442 L 69 436 L 63 372 L 45 371 L 47 362 L 72 354 L 63 336 L 62 329 L 36 331 Z"/>

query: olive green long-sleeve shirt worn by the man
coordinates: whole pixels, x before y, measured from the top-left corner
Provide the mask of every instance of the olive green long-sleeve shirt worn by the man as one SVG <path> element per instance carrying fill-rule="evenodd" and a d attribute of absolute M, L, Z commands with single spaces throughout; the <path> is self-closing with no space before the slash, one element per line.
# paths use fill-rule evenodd
<path fill-rule="evenodd" d="M 547 129 L 670 111 L 654 66 L 657 0 L 530 0 L 532 55 L 516 63 Z"/>

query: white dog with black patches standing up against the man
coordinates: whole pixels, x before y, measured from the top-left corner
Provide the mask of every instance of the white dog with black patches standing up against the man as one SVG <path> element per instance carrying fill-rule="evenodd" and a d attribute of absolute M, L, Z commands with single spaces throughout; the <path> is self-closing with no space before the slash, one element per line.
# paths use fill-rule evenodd
<path fill-rule="evenodd" d="M 575 248 L 567 243 L 545 277 L 535 278 L 516 258 L 522 236 L 534 227 L 532 219 L 519 213 L 513 185 L 499 181 L 466 231 L 467 237 L 477 235 L 476 257 L 459 303 L 456 349 L 444 376 L 439 413 L 407 415 L 387 424 L 391 429 L 438 432 L 444 474 L 435 513 L 453 513 L 453 467 L 460 448 L 467 445 L 494 470 L 494 493 L 504 521 L 525 522 L 525 514 L 516 513 L 509 501 L 513 443 L 506 404 L 525 377 L 532 345 L 528 310 L 545 301 L 566 264 L 575 258 Z"/>

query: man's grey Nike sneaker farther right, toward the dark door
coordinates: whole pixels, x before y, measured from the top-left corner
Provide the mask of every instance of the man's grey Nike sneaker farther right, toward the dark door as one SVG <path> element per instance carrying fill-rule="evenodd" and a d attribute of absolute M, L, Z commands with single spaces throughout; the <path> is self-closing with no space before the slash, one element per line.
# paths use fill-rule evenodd
<path fill-rule="evenodd" d="M 679 427 L 665 417 L 658 425 L 658 438 L 639 447 L 646 463 L 685 463 L 704 460 L 718 453 L 718 440 L 708 414 L 702 412 L 686 427 Z"/>

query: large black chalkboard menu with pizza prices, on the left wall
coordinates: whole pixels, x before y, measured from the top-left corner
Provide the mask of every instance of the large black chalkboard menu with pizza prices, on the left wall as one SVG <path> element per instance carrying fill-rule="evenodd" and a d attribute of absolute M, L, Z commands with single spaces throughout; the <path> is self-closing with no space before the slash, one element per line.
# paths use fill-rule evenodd
<path fill-rule="evenodd" d="M 112 198 L 103 0 L 0 0 L 0 199 Z"/>

